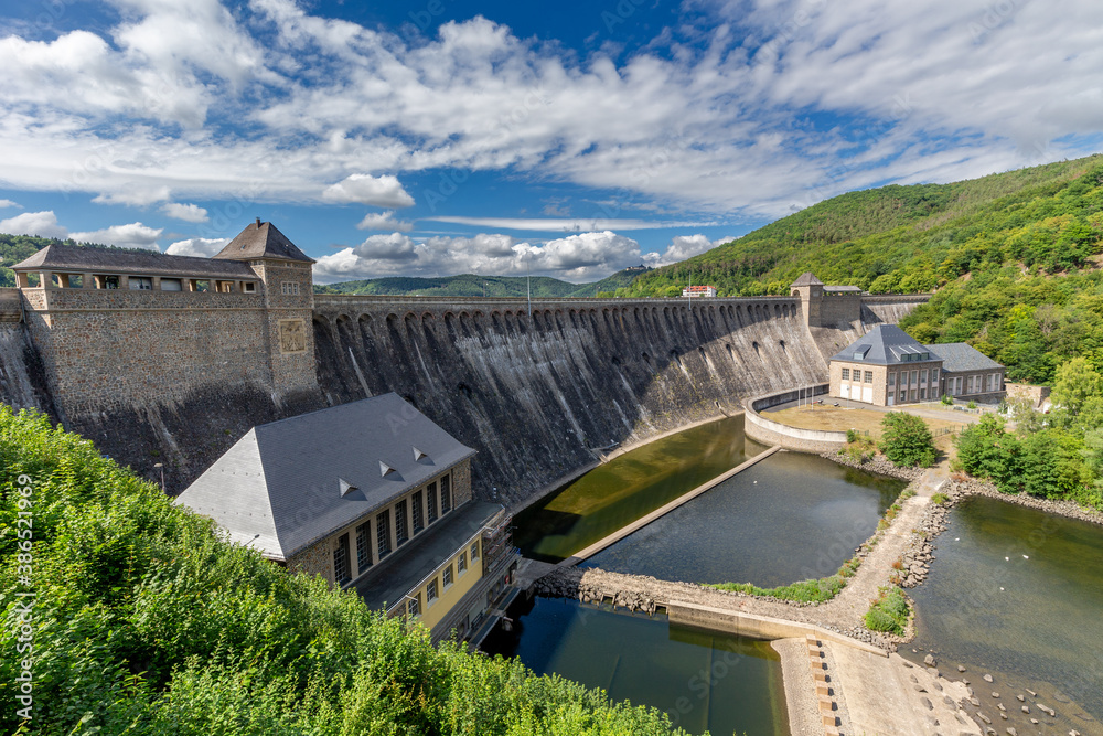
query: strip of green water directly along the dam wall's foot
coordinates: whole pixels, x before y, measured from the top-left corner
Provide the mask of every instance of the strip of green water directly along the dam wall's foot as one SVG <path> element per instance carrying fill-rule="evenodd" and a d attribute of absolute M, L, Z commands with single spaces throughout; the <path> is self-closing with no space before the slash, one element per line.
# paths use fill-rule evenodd
<path fill-rule="evenodd" d="M 559 562 L 765 450 L 743 437 L 742 416 L 625 452 L 515 516 L 526 557 Z"/>

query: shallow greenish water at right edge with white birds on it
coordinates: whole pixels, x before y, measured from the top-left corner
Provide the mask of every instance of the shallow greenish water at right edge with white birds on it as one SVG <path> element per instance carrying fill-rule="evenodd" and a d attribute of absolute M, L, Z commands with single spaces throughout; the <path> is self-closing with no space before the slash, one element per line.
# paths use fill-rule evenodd
<path fill-rule="evenodd" d="M 974 497 L 936 545 L 928 582 L 910 591 L 918 636 L 901 653 L 964 664 L 989 715 L 988 691 L 1017 712 L 1029 687 L 1058 711 L 1060 733 L 1103 734 L 1103 529 Z"/>

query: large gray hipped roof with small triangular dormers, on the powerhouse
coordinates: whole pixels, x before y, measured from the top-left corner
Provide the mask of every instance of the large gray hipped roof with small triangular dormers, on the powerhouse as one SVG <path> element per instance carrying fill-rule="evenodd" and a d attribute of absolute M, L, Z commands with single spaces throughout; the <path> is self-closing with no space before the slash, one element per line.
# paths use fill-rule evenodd
<path fill-rule="evenodd" d="M 385 394 L 254 427 L 176 502 L 288 559 L 474 454 Z"/>

